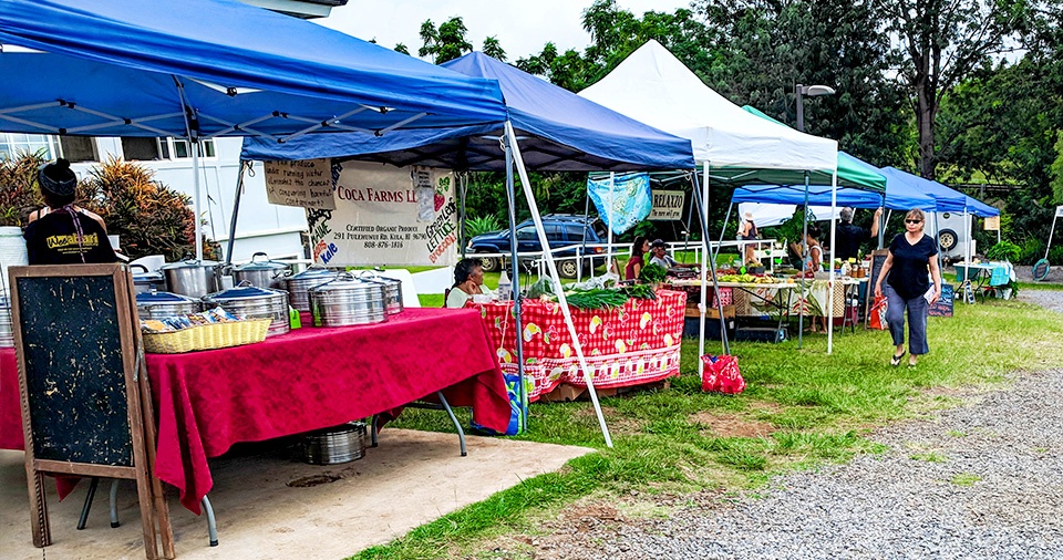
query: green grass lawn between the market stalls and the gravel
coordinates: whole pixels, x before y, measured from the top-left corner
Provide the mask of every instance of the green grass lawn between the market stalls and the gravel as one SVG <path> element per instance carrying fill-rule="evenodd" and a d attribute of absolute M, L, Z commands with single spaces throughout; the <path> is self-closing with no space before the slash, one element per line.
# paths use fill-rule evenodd
<path fill-rule="evenodd" d="M 538 520 L 581 498 L 630 505 L 637 491 L 641 515 L 667 515 L 647 495 L 755 488 L 773 474 L 879 453 L 864 437 L 877 426 L 956 406 L 963 388 L 1003 387 L 1011 374 L 1063 366 L 1061 332 L 1063 314 L 990 300 L 931 318 L 931 353 L 915 370 L 888 365 L 892 348 L 881 331 L 836 335 L 833 355 L 824 335 L 806 335 L 801 350 L 796 341 L 732 343 L 749 383 L 739 396 L 701 392 L 698 342 L 688 339 L 670 388 L 601 400 L 613 448 L 605 447 L 589 402 L 535 403 L 530 431 L 517 439 L 598 453 L 354 558 L 493 558 L 493 539 L 534 538 Z M 719 352 L 719 343 L 706 344 Z M 416 409 L 394 425 L 453 431 L 444 415 Z"/>

